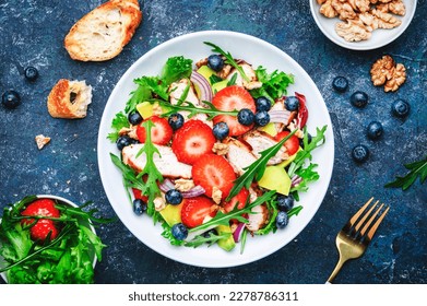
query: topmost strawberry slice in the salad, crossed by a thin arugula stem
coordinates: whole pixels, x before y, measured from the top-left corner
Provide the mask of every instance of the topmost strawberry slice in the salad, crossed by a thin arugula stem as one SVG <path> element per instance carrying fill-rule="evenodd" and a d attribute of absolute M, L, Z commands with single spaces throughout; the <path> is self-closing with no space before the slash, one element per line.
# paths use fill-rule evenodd
<path fill-rule="evenodd" d="M 216 93 L 212 104 L 220 110 L 240 110 L 249 108 L 256 113 L 256 103 L 250 93 L 245 87 L 233 85 L 225 87 Z M 237 117 L 230 115 L 217 115 L 213 118 L 213 123 L 226 122 L 229 128 L 229 136 L 240 136 L 253 128 L 253 125 L 244 126 L 237 120 Z"/>

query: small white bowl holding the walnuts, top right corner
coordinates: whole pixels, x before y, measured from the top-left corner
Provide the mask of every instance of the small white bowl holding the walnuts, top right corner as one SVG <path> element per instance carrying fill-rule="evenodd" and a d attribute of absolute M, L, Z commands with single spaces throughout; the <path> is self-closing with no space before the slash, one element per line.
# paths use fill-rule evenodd
<path fill-rule="evenodd" d="M 319 28 L 333 43 L 352 50 L 372 50 L 372 49 L 383 47 L 390 44 L 391 42 L 393 42 L 394 39 L 396 39 L 399 36 L 402 35 L 402 33 L 410 25 L 415 14 L 417 1 L 403 0 L 403 2 L 405 3 L 406 7 L 406 14 L 404 16 L 396 16 L 402 21 L 402 24 L 400 26 L 392 30 L 376 30 L 372 32 L 372 36 L 369 39 L 363 42 L 354 42 L 354 43 L 346 42 L 343 37 L 336 34 L 335 24 L 337 22 L 341 22 L 339 17 L 328 19 L 323 16 L 319 12 L 320 5 L 317 3 L 316 0 L 310 0 L 310 9 L 311 9 L 311 14 Z"/>

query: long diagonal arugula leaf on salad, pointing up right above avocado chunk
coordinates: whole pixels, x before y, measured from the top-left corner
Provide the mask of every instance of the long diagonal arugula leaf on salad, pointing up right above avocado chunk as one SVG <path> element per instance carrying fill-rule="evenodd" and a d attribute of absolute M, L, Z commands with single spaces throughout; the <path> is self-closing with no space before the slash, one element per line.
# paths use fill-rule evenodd
<path fill-rule="evenodd" d="M 234 181 L 233 188 L 229 191 L 226 201 L 229 201 L 234 196 L 239 193 L 241 188 L 246 187 L 247 189 L 249 189 L 253 180 L 259 180 L 264 174 L 266 163 L 270 161 L 271 157 L 277 154 L 285 141 L 288 140 L 295 132 L 296 130 L 292 131 L 287 137 L 282 139 L 273 146 L 260 152 L 261 156 L 250 166 L 246 167 L 245 173 Z"/>

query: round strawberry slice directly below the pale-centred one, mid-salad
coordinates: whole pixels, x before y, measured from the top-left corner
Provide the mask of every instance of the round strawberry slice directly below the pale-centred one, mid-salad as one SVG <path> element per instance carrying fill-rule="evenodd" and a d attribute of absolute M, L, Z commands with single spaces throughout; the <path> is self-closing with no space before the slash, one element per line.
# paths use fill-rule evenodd
<path fill-rule="evenodd" d="M 236 174 L 232 165 L 224 157 L 215 154 L 205 154 L 197 161 L 191 169 L 195 185 L 204 188 L 205 195 L 212 198 L 214 187 L 222 191 L 225 199 L 233 188 Z"/>

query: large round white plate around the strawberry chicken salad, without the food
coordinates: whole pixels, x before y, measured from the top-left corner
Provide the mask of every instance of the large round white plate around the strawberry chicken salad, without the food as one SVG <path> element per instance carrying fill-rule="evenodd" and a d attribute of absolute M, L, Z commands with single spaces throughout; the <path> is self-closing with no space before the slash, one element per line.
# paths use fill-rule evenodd
<path fill-rule="evenodd" d="M 186 58 L 198 61 L 212 54 L 211 48 L 203 44 L 211 42 L 224 50 L 229 51 L 235 58 L 245 59 L 254 67 L 263 66 L 269 72 L 275 69 L 293 73 L 295 84 L 288 87 L 288 93 L 295 91 L 307 97 L 307 106 L 311 116 L 308 119 L 309 131 L 316 131 L 316 127 L 328 125 L 327 143 L 317 149 L 313 162 L 319 164 L 318 170 L 321 179 L 311 185 L 310 191 L 301 195 L 300 204 L 304 205 L 298 216 L 293 216 L 288 226 L 276 234 L 266 236 L 248 237 L 245 252 L 240 255 L 237 246 L 227 252 L 217 246 L 212 247 L 176 247 L 161 236 L 162 226 L 153 225 L 153 221 L 146 216 L 137 216 L 122 187 L 122 176 L 119 169 L 111 163 L 110 152 L 119 155 L 115 143 L 107 140 L 110 132 L 111 120 L 118 111 L 123 110 L 129 98 L 129 93 L 135 89 L 133 79 L 141 75 L 158 75 L 163 64 L 169 57 L 182 55 Z M 174 260 L 199 267 L 233 267 L 261 259 L 295 238 L 298 233 L 310 222 L 320 207 L 327 192 L 333 167 L 334 141 L 332 123 L 323 98 L 310 76 L 289 56 L 278 48 L 252 36 L 233 32 L 199 32 L 183 35 L 168 40 L 151 51 L 146 52 L 123 74 L 114 89 L 105 107 L 98 133 L 98 164 L 100 178 L 107 197 L 122 223 L 153 250 Z M 143 256 L 143 255 L 142 255 Z"/>

